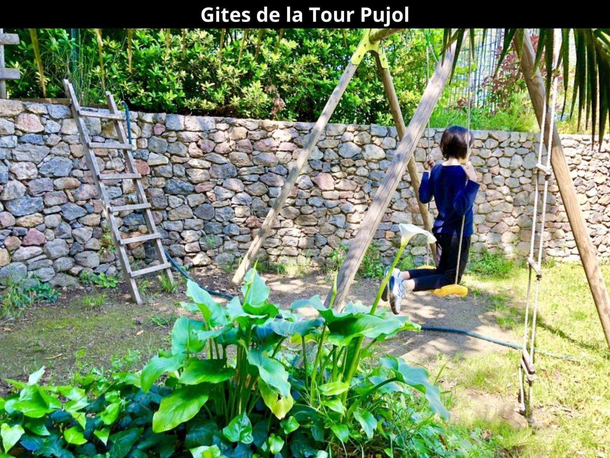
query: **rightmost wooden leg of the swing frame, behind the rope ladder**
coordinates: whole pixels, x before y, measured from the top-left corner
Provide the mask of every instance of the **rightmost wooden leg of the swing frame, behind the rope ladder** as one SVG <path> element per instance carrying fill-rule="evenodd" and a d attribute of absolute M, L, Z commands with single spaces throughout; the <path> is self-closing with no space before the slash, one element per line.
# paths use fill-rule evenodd
<path fill-rule="evenodd" d="M 519 42 L 517 37 L 513 40 L 513 46 L 517 48 Z M 523 33 L 523 48 L 521 56 L 521 71 L 523 73 L 523 79 L 528 87 L 529 98 L 534 106 L 538 123 L 542 122 L 542 111 L 546 103 L 545 85 L 542 81 L 540 71 L 536 70 L 536 74 L 533 75 L 534 68 L 534 47 L 529 39 L 529 31 L 525 29 Z M 545 125 L 545 133 L 548 133 L 551 126 L 551 120 L 547 117 Z M 542 128 L 541 128 L 542 130 Z M 547 136 L 548 138 L 548 136 Z M 601 140 L 601 139 L 600 139 Z M 589 230 L 586 226 L 586 220 L 584 219 L 583 212 L 581 211 L 580 205 L 578 204 L 578 198 L 576 194 L 576 187 L 570 177 L 570 170 L 567 162 L 565 161 L 564 150 L 561 145 L 561 138 L 556 126 L 553 125 L 553 150 L 551 151 L 551 166 L 553 167 L 553 173 L 557 186 L 559 187 L 559 193 L 564 203 L 565 213 L 568 216 L 570 222 L 570 228 L 572 228 L 572 234 L 580 254 L 581 261 L 583 261 L 584 273 L 587 276 L 589 282 L 589 288 L 591 289 L 591 295 L 597 307 L 597 313 L 600 316 L 601 327 L 603 328 L 606 336 L 606 343 L 610 347 L 610 299 L 608 298 L 608 290 L 604 283 L 604 279 L 601 276 L 600 266 L 597 263 L 597 256 L 595 253 L 595 247 L 591 242 L 589 236 Z M 546 209 L 544 209 L 546 211 Z"/>

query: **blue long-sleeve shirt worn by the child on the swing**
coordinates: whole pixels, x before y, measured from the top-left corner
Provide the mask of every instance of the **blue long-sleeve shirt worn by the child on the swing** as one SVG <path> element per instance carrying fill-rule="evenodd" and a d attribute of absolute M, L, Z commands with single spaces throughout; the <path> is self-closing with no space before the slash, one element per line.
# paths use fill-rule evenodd
<path fill-rule="evenodd" d="M 420 200 L 428 203 L 434 197 L 439 216 L 434 220 L 432 232 L 459 235 L 464 220 L 464 236 L 473 233 L 472 205 L 479 184 L 466 181 L 461 165 L 437 164 L 431 172 L 424 172 L 420 184 Z"/>

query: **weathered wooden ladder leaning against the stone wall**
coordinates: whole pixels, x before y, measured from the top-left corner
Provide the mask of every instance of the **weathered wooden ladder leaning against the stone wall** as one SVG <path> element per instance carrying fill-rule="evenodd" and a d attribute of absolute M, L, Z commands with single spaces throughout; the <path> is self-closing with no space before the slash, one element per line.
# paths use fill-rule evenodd
<path fill-rule="evenodd" d="M 106 221 L 110 228 L 110 235 L 112 236 L 112 241 L 114 242 L 114 245 L 117 249 L 118 260 L 121 263 L 121 268 L 123 269 L 123 275 L 125 276 L 125 280 L 127 282 L 127 288 L 129 288 L 129 293 L 131 293 L 131 297 L 134 302 L 136 302 L 137 304 L 142 304 L 142 298 L 140 297 L 140 293 L 138 292 L 138 286 L 135 283 L 135 277 L 149 274 L 151 272 L 165 270 L 165 273 L 167 274 L 167 277 L 169 278 L 172 284 L 174 283 L 174 278 L 171 274 L 171 264 L 168 263 L 167 258 L 165 257 L 165 252 L 163 251 L 163 245 L 161 244 L 161 236 L 157 231 L 157 226 L 154 223 L 154 220 L 152 219 L 151 205 L 146 200 L 146 193 L 144 191 L 144 187 L 142 186 L 142 175 L 140 175 L 140 173 L 138 173 L 137 169 L 135 168 L 134 158 L 131 154 L 132 145 L 129 142 L 129 139 L 126 136 L 125 130 L 123 128 L 125 113 L 117 109 L 117 104 L 115 103 L 114 97 L 110 92 L 106 92 L 106 100 L 108 102 L 109 110 L 109 112 L 106 113 L 91 111 L 91 109 L 81 107 L 76 98 L 76 93 L 74 93 L 74 87 L 67 79 L 63 80 L 63 87 L 65 88 L 66 95 L 71 100 L 72 115 L 74 117 L 74 120 L 76 121 L 76 126 L 81 136 L 81 144 L 83 145 L 85 150 L 85 156 L 87 157 L 87 165 L 89 167 L 89 170 L 91 170 L 91 176 L 93 176 L 93 183 L 95 183 L 95 186 L 98 188 L 98 193 L 101 197 L 104 216 L 106 217 Z M 87 133 L 87 126 L 85 126 L 84 117 L 112 120 L 117 131 L 118 143 L 91 142 Z M 96 156 L 93 151 L 96 148 L 123 151 L 123 157 L 127 169 L 126 173 L 101 173 L 99 171 L 98 161 L 96 160 Z M 133 180 L 135 185 L 135 194 L 138 198 L 138 203 L 118 206 L 110 205 L 106 184 L 104 183 L 108 180 Z M 115 218 L 115 213 L 119 211 L 129 210 L 142 210 L 142 214 L 146 222 L 146 227 L 148 228 L 148 234 L 125 239 L 121 238 L 121 234 L 117 227 L 117 219 Z M 134 242 L 143 242 L 147 240 L 154 241 L 154 247 L 157 252 L 157 259 L 159 260 L 159 264 L 156 266 L 145 267 L 144 269 L 139 269 L 137 271 L 132 271 L 131 266 L 129 265 L 129 260 L 127 259 L 126 245 Z"/>

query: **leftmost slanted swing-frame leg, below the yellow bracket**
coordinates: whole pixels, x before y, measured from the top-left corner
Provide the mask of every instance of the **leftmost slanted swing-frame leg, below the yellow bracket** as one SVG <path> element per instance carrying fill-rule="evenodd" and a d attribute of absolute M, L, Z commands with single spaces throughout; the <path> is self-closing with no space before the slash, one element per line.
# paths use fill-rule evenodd
<path fill-rule="evenodd" d="M 317 145 L 318 140 L 320 139 L 320 136 L 324 131 L 324 128 L 326 127 L 326 124 L 328 124 L 328 120 L 332 116 L 332 112 L 335 111 L 335 108 L 337 107 L 337 104 L 339 104 L 339 100 L 341 99 L 343 92 L 345 92 L 348 83 L 354 76 L 354 73 L 356 73 L 357 67 L 357 65 L 354 65 L 350 62 L 345 68 L 345 71 L 343 71 L 343 75 L 341 76 L 341 79 L 339 79 L 339 82 L 337 83 L 335 89 L 332 91 L 328 102 L 326 102 L 326 106 L 322 110 L 318 121 L 315 123 L 314 128 L 309 133 L 309 136 L 307 137 L 307 142 L 303 150 L 299 154 L 295 163 L 290 168 L 290 172 L 288 173 L 286 181 L 284 181 L 284 185 L 279 191 L 278 197 L 275 198 L 273 205 L 271 206 L 271 209 L 267 214 L 267 217 L 265 217 L 262 226 L 256 233 L 256 237 L 254 237 L 252 244 L 249 246 L 248 252 L 243 257 L 242 262 L 239 264 L 235 275 L 233 275 L 233 278 L 231 280 L 232 287 L 237 286 L 239 285 L 239 283 L 242 282 L 243 277 L 244 275 L 246 275 L 246 272 L 248 272 L 248 269 L 252 265 L 254 258 L 256 257 L 256 253 L 260 249 L 260 246 L 265 241 L 265 238 L 267 238 L 267 236 L 270 234 L 271 228 L 273 227 L 273 224 L 276 218 L 278 217 L 279 211 L 284 206 L 284 203 L 286 202 L 290 191 L 292 191 L 293 186 L 295 186 L 297 178 L 299 177 L 299 175 L 301 175 L 301 172 L 303 171 L 303 168 L 307 163 L 307 159 L 309 159 L 309 155 L 314 150 L 315 145 Z"/>

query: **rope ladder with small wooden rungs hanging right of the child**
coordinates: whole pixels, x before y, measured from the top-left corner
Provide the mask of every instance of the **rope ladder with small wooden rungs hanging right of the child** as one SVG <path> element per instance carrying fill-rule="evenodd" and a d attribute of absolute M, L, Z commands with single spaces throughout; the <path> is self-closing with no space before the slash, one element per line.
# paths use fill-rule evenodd
<path fill-rule="evenodd" d="M 553 29 L 553 45 L 554 45 L 554 29 Z M 554 46 L 553 46 L 554 48 Z M 536 164 L 536 184 L 534 191 L 534 214 L 532 217 L 532 234 L 531 239 L 529 241 L 529 272 L 528 272 L 528 289 L 525 299 L 525 322 L 523 324 L 523 352 L 522 359 L 519 362 L 519 391 L 520 391 L 520 409 L 524 415 L 527 416 L 529 423 L 534 423 L 534 418 L 532 415 L 533 412 L 533 383 L 535 380 L 534 374 L 536 373 L 536 368 L 534 367 L 534 347 L 536 340 L 536 321 L 537 321 L 537 313 L 538 313 L 538 297 L 540 293 L 540 280 L 542 280 L 542 248 L 544 245 L 544 231 L 546 224 L 546 216 L 547 216 L 547 200 L 548 200 L 548 181 L 550 178 L 550 166 L 551 166 L 551 151 L 553 149 L 553 130 L 554 130 L 554 119 L 555 119 L 555 103 L 557 96 L 557 75 L 554 73 L 555 67 L 557 65 L 556 56 L 553 51 L 553 59 L 552 59 L 552 67 L 547 68 L 547 72 L 551 72 L 551 77 L 553 78 L 553 88 L 551 93 L 551 111 L 550 111 L 550 128 L 548 131 L 548 147 L 547 147 L 547 158 L 546 164 L 542 164 L 542 155 L 543 155 L 543 147 L 544 147 L 544 139 L 545 139 L 545 130 L 546 130 L 546 118 L 547 118 L 547 103 L 544 104 L 542 109 L 542 122 L 540 123 L 540 143 L 538 147 L 537 154 L 537 164 Z M 542 194 L 542 208 L 540 215 L 540 235 L 538 238 L 538 252 L 537 252 L 537 260 L 534 260 L 534 245 L 536 243 L 536 222 L 538 220 L 538 201 L 540 194 L 540 172 L 544 173 L 544 191 Z M 531 303 L 531 286 L 532 286 L 532 271 L 536 273 L 536 283 L 534 286 L 534 300 L 533 304 Z M 531 310 L 531 325 L 528 324 L 529 314 Z M 530 327 L 531 326 L 531 327 Z M 529 352 L 527 350 L 529 342 Z M 524 379 L 528 382 L 528 403 L 525 402 L 525 388 L 524 388 Z"/>

